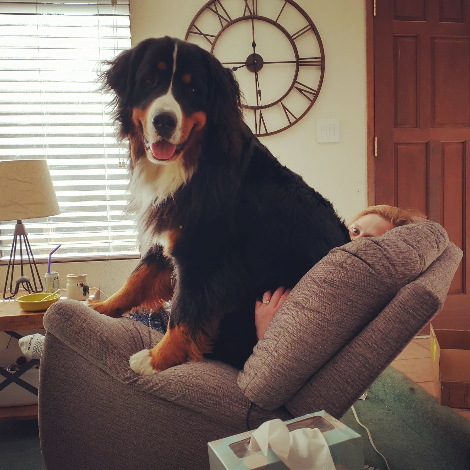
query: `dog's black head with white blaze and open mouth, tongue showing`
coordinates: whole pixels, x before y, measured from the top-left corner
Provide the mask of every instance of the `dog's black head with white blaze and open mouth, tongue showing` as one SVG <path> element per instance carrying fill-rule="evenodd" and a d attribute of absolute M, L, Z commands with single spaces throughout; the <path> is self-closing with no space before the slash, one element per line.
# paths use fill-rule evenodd
<path fill-rule="evenodd" d="M 146 39 L 108 63 L 103 87 L 113 90 L 120 136 L 131 143 L 133 163 L 146 156 L 167 164 L 242 121 L 232 71 L 204 49 L 164 37 Z"/>

